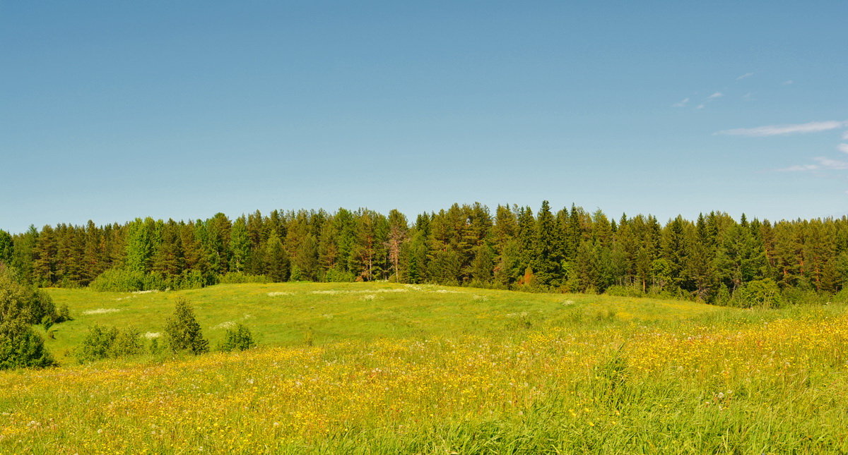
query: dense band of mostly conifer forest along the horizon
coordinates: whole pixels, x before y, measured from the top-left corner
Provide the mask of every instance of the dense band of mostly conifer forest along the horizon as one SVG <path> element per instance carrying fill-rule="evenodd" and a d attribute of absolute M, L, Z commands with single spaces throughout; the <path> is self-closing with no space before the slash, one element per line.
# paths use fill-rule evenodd
<path fill-rule="evenodd" d="M 769 222 L 711 212 L 664 224 L 572 206 L 424 213 L 259 211 L 0 231 L 0 261 L 42 287 L 197 288 L 377 281 L 664 295 L 712 304 L 827 300 L 848 280 L 848 219 Z"/>

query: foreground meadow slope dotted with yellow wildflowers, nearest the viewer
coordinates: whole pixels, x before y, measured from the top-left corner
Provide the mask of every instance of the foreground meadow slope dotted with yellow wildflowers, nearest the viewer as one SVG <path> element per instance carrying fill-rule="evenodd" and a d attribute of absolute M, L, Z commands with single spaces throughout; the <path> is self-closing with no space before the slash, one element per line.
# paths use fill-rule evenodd
<path fill-rule="evenodd" d="M 3 453 L 845 452 L 848 316 L 0 374 Z"/>

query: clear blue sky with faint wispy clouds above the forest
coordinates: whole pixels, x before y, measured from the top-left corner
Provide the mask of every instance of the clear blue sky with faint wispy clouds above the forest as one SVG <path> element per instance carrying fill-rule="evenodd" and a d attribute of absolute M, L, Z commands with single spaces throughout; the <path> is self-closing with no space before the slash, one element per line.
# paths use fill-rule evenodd
<path fill-rule="evenodd" d="M 841 216 L 846 19 L 845 1 L 0 2 L 0 228 L 542 200 Z"/>

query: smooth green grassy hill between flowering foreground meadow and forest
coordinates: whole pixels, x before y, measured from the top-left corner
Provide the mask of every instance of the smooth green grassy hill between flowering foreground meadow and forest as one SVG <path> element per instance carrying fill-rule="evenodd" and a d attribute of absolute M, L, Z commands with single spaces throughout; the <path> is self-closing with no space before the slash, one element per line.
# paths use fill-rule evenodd
<path fill-rule="evenodd" d="M 390 283 L 222 284 L 165 293 L 99 293 L 51 288 L 74 321 L 54 326 L 48 347 L 63 363 L 94 324 L 161 333 L 178 296 L 194 305 L 213 346 L 226 327 L 248 326 L 259 344 L 293 346 L 311 332 L 314 343 L 376 338 L 502 334 L 516 328 L 595 320 L 680 321 L 727 309 L 675 300 L 587 294 L 516 293 Z M 732 311 L 732 310 L 731 310 Z"/>

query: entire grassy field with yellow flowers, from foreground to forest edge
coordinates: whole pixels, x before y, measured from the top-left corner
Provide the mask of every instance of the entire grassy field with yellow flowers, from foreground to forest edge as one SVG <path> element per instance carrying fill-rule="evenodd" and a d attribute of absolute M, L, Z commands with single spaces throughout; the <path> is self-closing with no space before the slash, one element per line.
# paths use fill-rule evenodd
<path fill-rule="evenodd" d="M 0 374 L 3 453 L 848 452 L 841 305 L 389 283 L 49 292 L 75 316 L 49 340 L 65 366 Z M 180 295 L 213 345 L 242 322 L 260 347 L 74 365 L 86 326 L 162 332 Z"/>

